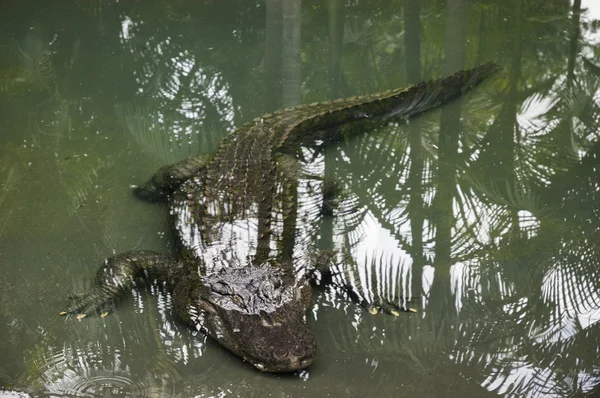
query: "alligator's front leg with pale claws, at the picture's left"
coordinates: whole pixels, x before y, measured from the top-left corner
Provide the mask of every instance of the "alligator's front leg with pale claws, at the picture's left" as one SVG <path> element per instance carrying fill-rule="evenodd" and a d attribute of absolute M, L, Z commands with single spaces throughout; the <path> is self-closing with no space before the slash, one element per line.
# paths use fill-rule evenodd
<path fill-rule="evenodd" d="M 60 314 L 76 316 L 77 319 L 94 313 L 104 317 L 121 296 L 131 291 L 136 279 L 176 282 L 182 267 L 169 256 L 148 250 L 110 257 L 98 269 L 91 290 L 72 296 L 74 304 Z"/>

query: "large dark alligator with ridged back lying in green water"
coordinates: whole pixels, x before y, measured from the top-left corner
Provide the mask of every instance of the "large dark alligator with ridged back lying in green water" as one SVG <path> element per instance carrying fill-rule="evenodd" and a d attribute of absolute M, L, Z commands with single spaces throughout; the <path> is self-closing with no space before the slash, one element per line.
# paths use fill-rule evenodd
<path fill-rule="evenodd" d="M 308 367 L 317 347 L 306 320 L 311 276 L 326 267 L 311 260 L 319 258 L 316 251 L 294 249 L 306 239 L 295 224 L 302 148 L 334 141 L 343 131 L 335 127 L 345 123 L 423 113 L 497 69 L 486 63 L 406 88 L 283 109 L 232 131 L 215 153 L 160 168 L 134 194 L 168 201 L 177 258 L 147 250 L 108 258 L 92 288 L 72 297 L 61 314 L 104 317 L 136 281 L 155 280 L 172 292 L 174 312 L 184 322 L 257 369 Z M 394 315 L 407 310 L 376 304 Z"/>

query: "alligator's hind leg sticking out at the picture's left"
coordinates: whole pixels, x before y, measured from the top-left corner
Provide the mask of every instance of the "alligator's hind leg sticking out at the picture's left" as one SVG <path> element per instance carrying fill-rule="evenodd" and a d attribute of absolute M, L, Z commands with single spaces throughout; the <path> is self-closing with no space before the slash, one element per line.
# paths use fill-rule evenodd
<path fill-rule="evenodd" d="M 147 182 L 136 187 L 133 193 L 149 202 L 166 200 L 184 181 L 204 170 L 210 159 L 210 155 L 203 154 L 163 166 Z"/>

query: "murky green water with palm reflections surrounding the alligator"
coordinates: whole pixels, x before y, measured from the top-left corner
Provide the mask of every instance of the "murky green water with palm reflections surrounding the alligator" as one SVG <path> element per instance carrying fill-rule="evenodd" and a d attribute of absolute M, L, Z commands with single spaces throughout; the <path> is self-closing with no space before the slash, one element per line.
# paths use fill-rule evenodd
<path fill-rule="evenodd" d="M 417 4 L 418 3 L 418 4 Z M 0 387 L 34 396 L 585 396 L 600 385 L 600 6 L 594 0 L 5 1 L 0 5 Z M 171 250 L 130 187 L 299 102 L 494 60 L 460 102 L 342 142 L 316 240 L 352 254 L 317 360 L 261 374 L 140 288 L 58 312 L 104 258 Z M 366 129 L 366 127 L 364 127 Z M 369 127 L 369 130 L 371 128 Z"/>

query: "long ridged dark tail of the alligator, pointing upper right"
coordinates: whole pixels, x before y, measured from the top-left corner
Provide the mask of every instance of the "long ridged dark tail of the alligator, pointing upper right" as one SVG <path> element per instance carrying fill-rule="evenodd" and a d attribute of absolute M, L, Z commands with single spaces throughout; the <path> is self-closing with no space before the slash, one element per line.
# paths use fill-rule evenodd
<path fill-rule="evenodd" d="M 314 140 L 316 137 L 311 133 L 351 121 L 369 118 L 385 121 L 418 115 L 459 97 L 499 69 L 499 65 L 488 62 L 405 88 L 288 109 L 296 117 L 281 132 L 277 146 L 284 151 L 296 148 Z"/>

